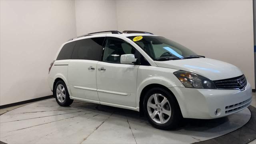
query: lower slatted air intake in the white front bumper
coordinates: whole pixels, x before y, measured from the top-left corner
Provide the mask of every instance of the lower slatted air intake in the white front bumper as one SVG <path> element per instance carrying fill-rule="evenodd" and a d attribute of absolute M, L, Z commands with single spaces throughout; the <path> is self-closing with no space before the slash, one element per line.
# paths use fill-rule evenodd
<path fill-rule="evenodd" d="M 249 98 L 248 100 L 245 100 L 243 102 L 233 104 L 233 105 L 230 105 L 230 106 L 226 106 L 225 107 L 225 114 L 229 114 L 231 112 L 236 112 L 238 110 L 241 110 L 242 108 L 245 108 L 245 107 L 249 106 L 251 101 L 252 101 L 252 98 Z"/>

